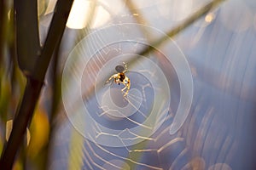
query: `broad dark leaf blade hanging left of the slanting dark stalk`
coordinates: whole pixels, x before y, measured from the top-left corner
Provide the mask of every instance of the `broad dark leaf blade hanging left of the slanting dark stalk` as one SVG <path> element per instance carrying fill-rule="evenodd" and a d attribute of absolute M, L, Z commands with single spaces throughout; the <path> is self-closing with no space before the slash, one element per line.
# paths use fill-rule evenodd
<path fill-rule="evenodd" d="M 40 55 L 37 1 L 15 1 L 15 27 L 18 63 L 26 75 L 31 75 Z"/>

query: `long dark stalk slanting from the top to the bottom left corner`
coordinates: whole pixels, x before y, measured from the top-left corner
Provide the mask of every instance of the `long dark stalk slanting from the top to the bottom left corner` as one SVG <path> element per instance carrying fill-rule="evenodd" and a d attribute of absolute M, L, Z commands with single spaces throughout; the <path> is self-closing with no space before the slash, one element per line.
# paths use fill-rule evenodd
<path fill-rule="evenodd" d="M 23 3 L 23 1 L 21 2 Z M 38 102 L 41 88 L 44 84 L 45 73 L 49 66 L 49 60 L 55 50 L 56 47 L 59 46 L 61 42 L 61 37 L 66 27 L 68 14 L 72 7 L 73 0 L 58 0 L 55 6 L 55 14 L 49 26 L 49 32 L 44 42 L 44 48 L 41 54 L 39 55 L 37 63 L 33 65 L 33 70 L 31 75 L 26 77 L 26 89 L 23 94 L 23 98 L 20 104 L 20 109 L 17 110 L 17 114 L 15 116 L 15 121 L 13 124 L 12 132 L 10 133 L 9 141 L 4 144 L 1 160 L 0 160 L 0 168 L 5 170 L 10 170 L 15 161 L 15 155 L 17 150 L 20 148 L 20 144 L 23 141 L 24 134 L 26 132 L 26 127 L 29 126 L 29 122 L 32 119 L 33 111 Z M 29 5 L 29 4 L 27 4 Z M 37 8 L 37 7 L 34 7 Z M 22 8 L 20 9 L 22 10 Z M 17 11 L 16 11 L 17 12 Z M 29 14 L 29 13 L 26 13 Z M 26 18 L 26 17 L 24 17 Z M 19 28 L 17 28 L 19 29 Z M 24 29 L 26 32 L 20 33 L 28 33 L 29 30 Z M 34 31 L 37 32 L 37 31 Z M 33 36 L 33 35 L 32 35 Z M 38 36 L 38 35 L 34 35 Z M 19 40 L 18 40 L 19 41 Z M 24 42 L 25 43 L 25 42 Z M 31 43 L 30 43 L 31 44 Z M 19 44 L 17 44 L 19 45 Z M 31 50 L 28 46 L 25 47 L 24 50 Z M 37 55 L 36 55 L 37 56 Z M 29 56 L 31 58 L 36 58 L 35 55 Z M 19 58 L 18 52 L 18 58 Z M 28 60 L 26 60 L 28 59 Z M 25 61 L 30 62 L 30 58 L 26 56 Z M 23 63 L 24 64 L 24 63 Z M 25 66 L 22 70 L 30 71 L 31 65 L 22 65 Z M 26 67 L 27 66 L 27 67 Z"/>

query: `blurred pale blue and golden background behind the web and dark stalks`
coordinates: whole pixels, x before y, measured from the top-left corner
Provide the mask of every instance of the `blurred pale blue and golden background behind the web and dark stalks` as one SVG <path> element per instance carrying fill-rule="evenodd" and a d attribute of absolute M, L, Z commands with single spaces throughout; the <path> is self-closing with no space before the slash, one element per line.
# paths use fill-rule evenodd
<path fill-rule="evenodd" d="M 75 0 L 14 169 L 256 169 L 256 2 L 224 1 L 172 39 L 154 44 L 209 2 Z M 1 148 L 26 85 L 15 59 L 11 7 L 6 3 L 0 42 Z M 54 7 L 55 0 L 38 0 L 42 44 Z M 119 35 L 131 39 L 118 42 Z M 131 55 L 152 44 L 156 48 L 144 60 L 130 65 Z M 183 89 L 180 74 L 187 73 L 177 72 L 177 57 L 189 66 L 192 87 Z M 123 87 L 104 85 L 123 62 L 131 79 L 128 99 Z M 183 111 L 189 115 L 170 134 L 182 89 L 188 98 L 193 94 Z M 115 105 L 121 116 L 104 105 Z M 154 131 L 148 135 L 143 122 L 152 114 Z"/>

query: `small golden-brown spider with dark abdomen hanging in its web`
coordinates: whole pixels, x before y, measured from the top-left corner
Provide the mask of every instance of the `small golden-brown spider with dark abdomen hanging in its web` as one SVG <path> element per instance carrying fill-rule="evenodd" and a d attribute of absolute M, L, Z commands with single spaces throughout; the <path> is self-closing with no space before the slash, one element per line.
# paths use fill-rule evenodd
<path fill-rule="evenodd" d="M 115 83 L 117 83 L 119 85 L 120 85 L 120 83 L 124 84 L 125 88 L 123 88 L 122 91 L 124 92 L 126 89 L 125 94 L 124 94 L 124 97 L 125 97 L 130 90 L 131 83 L 130 83 L 130 78 L 125 76 L 125 72 L 127 71 L 127 65 L 125 64 L 125 62 L 123 62 L 123 64 L 125 65 L 125 68 L 122 65 L 117 65 L 115 67 L 115 70 L 119 73 L 113 74 L 113 76 L 108 79 L 106 84 L 108 82 L 110 82 L 112 79 Z"/>

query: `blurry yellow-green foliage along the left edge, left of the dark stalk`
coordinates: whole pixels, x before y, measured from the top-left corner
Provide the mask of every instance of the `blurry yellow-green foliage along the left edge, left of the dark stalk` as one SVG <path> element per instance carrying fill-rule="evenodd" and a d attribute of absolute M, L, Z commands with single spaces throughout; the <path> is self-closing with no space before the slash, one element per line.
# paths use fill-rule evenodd
<path fill-rule="evenodd" d="M 1 26 L 2 36 L 0 40 L 2 44 L 0 48 L 0 116 L 3 125 L 5 125 L 6 121 L 15 115 L 26 80 L 17 65 L 15 56 L 13 3 L 3 2 L 3 15 L 1 16 L 3 17 L 3 25 Z"/>

